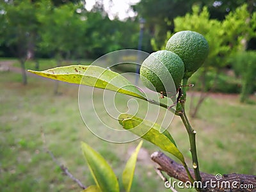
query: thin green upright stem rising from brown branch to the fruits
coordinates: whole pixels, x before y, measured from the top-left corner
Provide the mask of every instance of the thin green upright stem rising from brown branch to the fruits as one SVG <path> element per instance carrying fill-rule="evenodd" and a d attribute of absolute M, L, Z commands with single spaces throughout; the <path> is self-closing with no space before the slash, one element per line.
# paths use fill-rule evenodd
<path fill-rule="evenodd" d="M 198 159 L 197 159 L 197 153 L 196 153 L 196 131 L 192 128 L 191 124 L 189 123 L 188 117 L 185 113 L 185 102 L 186 102 L 186 85 L 188 84 L 188 78 L 182 79 L 182 96 L 180 97 L 180 104 L 182 106 L 182 113 L 180 114 L 180 118 L 182 119 L 183 124 L 186 127 L 186 131 L 188 132 L 189 136 L 189 144 L 190 144 L 190 152 L 192 155 L 192 161 L 193 161 L 193 169 L 195 173 L 195 180 L 199 181 L 201 180 L 200 171 L 199 171 L 199 165 L 198 165 Z"/>

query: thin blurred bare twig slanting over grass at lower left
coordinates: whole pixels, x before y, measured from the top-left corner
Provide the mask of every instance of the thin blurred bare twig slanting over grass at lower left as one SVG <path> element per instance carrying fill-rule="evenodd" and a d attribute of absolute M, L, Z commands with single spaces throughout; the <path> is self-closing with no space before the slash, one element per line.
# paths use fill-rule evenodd
<path fill-rule="evenodd" d="M 62 172 L 67 175 L 70 179 L 72 179 L 74 182 L 76 182 L 79 187 L 81 189 L 86 189 L 86 186 L 84 186 L 82 184 L 82 182 L 77 179 L 76 177 L 74 177 L 74 175 L 72 175 L 69 171 L 68 171 L 68 168 L 65 167 L 63 164 L 61 164 L 58 159 L 56 159 L 56 157 L 54 156 L 54 154 L 52 154 L 51 150 L 49 150 L 49 148 L 47 148 L 46 146 L 46 141 L 45 141 L 45 135 L 44 135 L 44 131 L 43 129 L 41 129 L 41 136 L 42 136 L 42 140 L 43 140 L 43 143 L 44 143 L 44 149 L 45 149 L 45 152 L 47 152 L 47 154 L 49 154 L 51 157 L 52 157 L 52 160 L 54 161 L 54 163 L 56 163 L 58 166 L 60 166 Z"/>

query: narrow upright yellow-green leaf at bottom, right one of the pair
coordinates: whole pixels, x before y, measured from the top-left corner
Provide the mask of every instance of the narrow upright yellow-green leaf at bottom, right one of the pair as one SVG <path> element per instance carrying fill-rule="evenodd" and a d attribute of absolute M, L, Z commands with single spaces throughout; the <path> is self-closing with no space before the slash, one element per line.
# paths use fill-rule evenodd
<path fill-rule="evenodd" d="M 136 147 L 136 149 L 132 153 L 131 157 L 128 159 L 124 168 L 122 179 L 123 179 L 123 184 L 126 192 L 130 192 L 131 190 L 136 161 L 137 161 L 138 153 L 140 151 L 142 143 L 143 141 L 141 140 L 139 145 Z"/>

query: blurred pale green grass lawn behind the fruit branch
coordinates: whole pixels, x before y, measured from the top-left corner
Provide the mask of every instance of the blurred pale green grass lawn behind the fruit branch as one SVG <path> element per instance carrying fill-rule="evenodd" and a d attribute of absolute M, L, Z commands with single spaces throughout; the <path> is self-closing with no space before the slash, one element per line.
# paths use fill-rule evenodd
<path fill-rule="evenodd" d="M 138 141 L 115 144 L 92 134 L 79 113 L 77 85 L 60 83 L 61 95 L 56 96 L 53 94 L 54 81 L 29 76 L 28 85 L 22 86 L 20 80 L 20 74 L 0 74 L 1 191 L 81 191 L 70 178 L 61 174 L 60 167 L 45 152 L 45 145 L 84 185 L 93 184 L 80 150 L 81 141 L 106 157 L 119 180 L 122 180 L 125 161 Z M 88 88 L 88 94 L 91 90 Z M 102 92 L 96 90 L 93 97 L 100 105 Z M 113 100 L 113 97 L 106 95 L 105 99 Z M 94 113 L 93 108 L 89 107 L 90 102 L 83 102 L 83 106 L 88 106 L 88 114 Z M 120 95 L 115 102 L 120 111 L 127 109 Z M 129 103 L 130 108 L 133 105 L 136 102 Z M 212 174 L 255 174 L 255 109 L 253 105 L 240 104 L 237 95 L 211 95 L 205 100 L 198 118 L 191 120 L 197 132 L 201 171 Z M 163 116 L 163 112 L 160 112 L 159 118 Z M 154 110 L 149 113 L 149 116 L 156 116 Z M 108 121 L 108 116 L 104 118 Z M 86 124 L 100 126 L 95 118 L 86 118 Z M 113 127 L 118 126 L 117 122 L 113 123 Z M 188 136 L 178 116 L 173 118 L 168 130 L 190 165 Z M 163 181 L 154 172 L 150 154 L 155 150 L 159 148 L 144 141 L 132 191 L 170 191 L 164 189 Z"/>

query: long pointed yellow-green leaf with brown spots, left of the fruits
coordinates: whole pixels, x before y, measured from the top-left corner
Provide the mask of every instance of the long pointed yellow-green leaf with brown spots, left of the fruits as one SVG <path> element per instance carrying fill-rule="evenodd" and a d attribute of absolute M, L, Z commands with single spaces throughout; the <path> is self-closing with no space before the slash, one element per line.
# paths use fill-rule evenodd
<path fill-rule="evenodd" d="M 147 100 L 145 95 L 140 92 L 136 86 L 132 85 L 128 79 L 116 72 L 99 66 L 70 65 L 51 68 L 42 72 L 33 70 L 28 71 L 38 76 L 50 79 L 56 79 L 68 83 L 84 84 Z"/>

